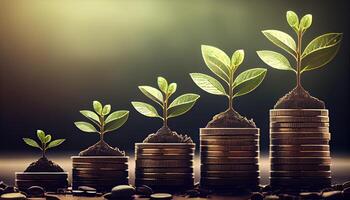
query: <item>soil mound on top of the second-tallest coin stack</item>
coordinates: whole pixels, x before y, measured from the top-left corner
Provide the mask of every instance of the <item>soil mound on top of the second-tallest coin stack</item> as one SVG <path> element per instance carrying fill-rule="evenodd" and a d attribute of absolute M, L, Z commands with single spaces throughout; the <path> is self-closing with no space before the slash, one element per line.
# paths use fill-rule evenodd
<path fill-rule="evenodd" d="M 241 116 L 233 109 L 228 109 L 213 117 L 206 128 L 256 128 L 254 121 Z"/>

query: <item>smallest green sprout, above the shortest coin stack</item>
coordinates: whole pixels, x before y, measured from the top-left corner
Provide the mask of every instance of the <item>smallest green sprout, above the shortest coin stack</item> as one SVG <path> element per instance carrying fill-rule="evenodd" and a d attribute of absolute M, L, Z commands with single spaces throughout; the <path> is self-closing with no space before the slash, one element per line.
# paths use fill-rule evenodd
<path fill-rule="evenodd" d="M 42 151 L 43 158 L 46 157 L 46 150 L 53 147 L 57 147 L 65 141 L 65 139 L 57 139 L 57 140 L 51 141 L 52 139 L 51 135 L 49 134 L 45 135 L 45 132 L 42 130 L 37 130 L 36 135 L 40 141 L 40 145 L 35 140 L 30 138 L 23 138 L 23 141 L 31 147 L 40 149 Z"/>

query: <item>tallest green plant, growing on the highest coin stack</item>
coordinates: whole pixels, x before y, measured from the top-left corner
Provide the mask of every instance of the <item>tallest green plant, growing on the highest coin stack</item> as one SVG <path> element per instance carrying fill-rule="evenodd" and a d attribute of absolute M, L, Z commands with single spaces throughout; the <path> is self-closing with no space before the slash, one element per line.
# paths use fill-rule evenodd
<path fill-rule="evenodd" d="M 286 18 L 289 26 L 296 33 L 297 42 L 290 35 L 279 30 L 264 30 L 262 33 L 273 44 L 290 54 L 295 60 L 295 67 L 292 67 L 289 60 L 280 53 L 262 50 L 257 51 L 257 54 L 270 67 L 295 72 L 297 87 L 302 88 L 301 74 L 329 63 L 339 50 L 343 34 L 326 33 L 318 36 L 302 51 L 303 36 L 312 24 L 312 15 L 305 15 L 299 22 L 298 15 L 293 11 L 288 11 Z"/>

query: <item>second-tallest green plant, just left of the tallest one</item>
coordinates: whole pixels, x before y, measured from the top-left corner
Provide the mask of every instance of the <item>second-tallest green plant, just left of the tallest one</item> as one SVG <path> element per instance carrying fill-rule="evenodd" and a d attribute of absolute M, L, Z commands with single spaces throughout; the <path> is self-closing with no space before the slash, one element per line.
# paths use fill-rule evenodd
<path fill-rule="evenodd" d="M 218 80 L 209 75 L 191 73 L 190 76 L 202 90 L 210 94 L 226 96 L 228 98 L 228 109 L 233 109 L 232 101 L 234 98 L 253 91 L 260 85 L 266 75 L 266 69 L 254 68 L 235 77 L 236 70 L 244 60 L 244 50 L 235 51 L 230 59 L 222 50 L 202 45 L 202 56 L 210 71 L 228 85 L 228 90 L 225 90 Z"/>

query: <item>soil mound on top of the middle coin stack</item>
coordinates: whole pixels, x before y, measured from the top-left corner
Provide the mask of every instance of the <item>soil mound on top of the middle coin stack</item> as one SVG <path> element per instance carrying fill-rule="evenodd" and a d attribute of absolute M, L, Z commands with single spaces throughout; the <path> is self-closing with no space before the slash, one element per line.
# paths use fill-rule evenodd
<path fill-rule="evenodd" d="M 156 133 L 149 134 L 143 143 L 193 143 L 187 135 L 177 134 L 169 127 L 163 126 Z"/>

